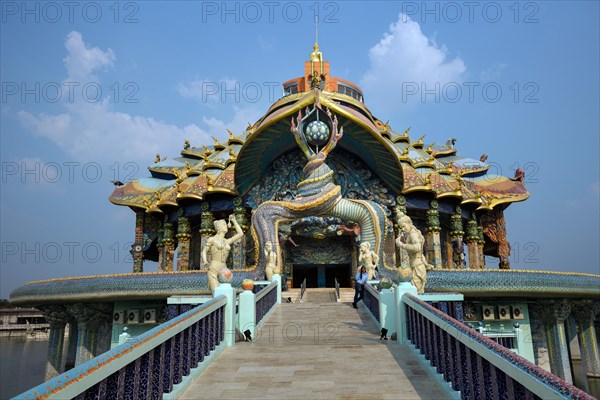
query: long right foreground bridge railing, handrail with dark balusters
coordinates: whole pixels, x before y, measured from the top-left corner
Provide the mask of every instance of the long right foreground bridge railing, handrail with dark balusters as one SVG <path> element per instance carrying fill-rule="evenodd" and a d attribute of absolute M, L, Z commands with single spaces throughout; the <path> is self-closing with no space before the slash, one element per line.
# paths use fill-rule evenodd
<path fill-rule="evenodd" d="M 406 336 L 464 399 L 593 399 L 410 293 Z"/>

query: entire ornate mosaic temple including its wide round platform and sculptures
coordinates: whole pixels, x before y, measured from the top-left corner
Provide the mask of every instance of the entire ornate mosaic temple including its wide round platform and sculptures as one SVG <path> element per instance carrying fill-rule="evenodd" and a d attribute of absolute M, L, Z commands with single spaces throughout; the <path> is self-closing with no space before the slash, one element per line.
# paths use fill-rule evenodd
<path fill-rule="evenodd" d="M 135 337 L 191 310 L 179 297 L 210 298 L 215 268 L 233 272 L 238 293 L 244 279 L 271 274 L 290 289 L 351 288 L 367 248 L 378 277 L 395 282 L 416 254 L 427 265 L 423 301 L 456 296 L 441 312 L 600 393 L 600 275 L 511 269 L 504 212 L 529 197 L 523 170 L 498 176 L 485 154 L 459 154 L 454 137 L 394 129 L 371 113 L 368 93 L 330 71 L 315 44 L 303 74 L 243 132 L 189 138 L 177 157 L 156 154 L 149 177 L 115 182 L 110 201 L 136 215 L 131 273 L 11 293 L 48 320 L 46 377 L 118 346 L 124 328 Z"/>

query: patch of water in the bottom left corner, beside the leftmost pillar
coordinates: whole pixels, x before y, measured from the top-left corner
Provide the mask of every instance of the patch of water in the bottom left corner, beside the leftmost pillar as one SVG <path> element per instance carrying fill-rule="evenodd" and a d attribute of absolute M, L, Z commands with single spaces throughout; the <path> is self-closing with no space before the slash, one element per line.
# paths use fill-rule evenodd
<path fill-rule="evenodd" d="M 0 399 L 44 382 L 48 341 L 0 339 Z"/>

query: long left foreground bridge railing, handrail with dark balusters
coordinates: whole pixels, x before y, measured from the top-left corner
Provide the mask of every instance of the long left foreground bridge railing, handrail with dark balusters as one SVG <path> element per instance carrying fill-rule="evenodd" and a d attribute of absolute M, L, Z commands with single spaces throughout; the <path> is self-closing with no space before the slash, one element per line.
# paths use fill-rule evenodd
<path fill-rule="evenodd" d="M 16 398 L 162 399 L 222 349 L 226 304 L 209 300 Z"/>

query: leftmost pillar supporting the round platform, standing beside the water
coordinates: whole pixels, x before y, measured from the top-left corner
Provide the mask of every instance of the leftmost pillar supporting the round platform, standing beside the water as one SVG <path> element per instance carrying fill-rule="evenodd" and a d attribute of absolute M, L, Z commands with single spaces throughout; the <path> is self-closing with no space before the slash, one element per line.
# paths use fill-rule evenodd
<path fill-rule="evenodd" d="M 48 359 L 46 360 L 45 380 L 62 373 L 63 346 L 65 343 L 65 326 L 69 322 L 69 314 L 64 306 L 40 307 L 46 321 L 50 324 L 48 338 Z"/>

